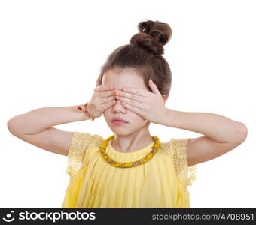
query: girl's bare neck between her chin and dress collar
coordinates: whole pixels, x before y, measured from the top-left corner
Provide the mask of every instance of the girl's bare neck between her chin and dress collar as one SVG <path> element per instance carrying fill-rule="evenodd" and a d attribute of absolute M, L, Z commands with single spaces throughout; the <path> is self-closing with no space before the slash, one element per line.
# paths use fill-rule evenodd
<path fill-rule="evenodd" d="M 137 130 L 126 136 L 119 136 L 116 134 L 112 139 L 111 145 L 116 151 L 133 152 L 149 145 L 153 141 L 148 127 Z"/>

